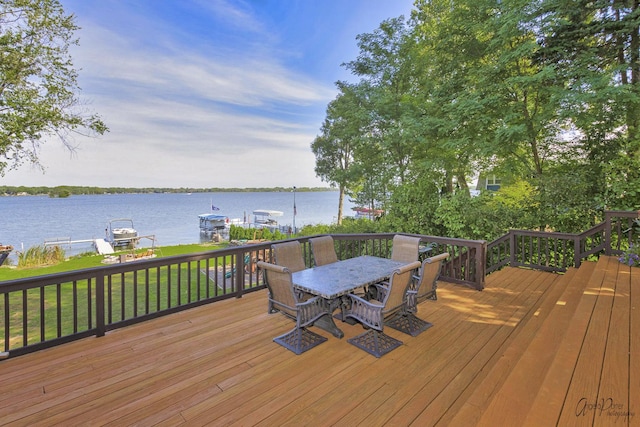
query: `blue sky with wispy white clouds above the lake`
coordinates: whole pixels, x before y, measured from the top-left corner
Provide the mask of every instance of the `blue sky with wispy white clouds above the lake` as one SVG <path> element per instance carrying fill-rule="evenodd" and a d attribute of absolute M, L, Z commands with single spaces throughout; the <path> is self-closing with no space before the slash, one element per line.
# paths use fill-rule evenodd
<path fill-rule="evenodd" d="M 47 141 L 0 185 L 326 186 L 310 145 L 356 36 L 412 0 L 61 0 L 83 108 L 110 132 Z"/>

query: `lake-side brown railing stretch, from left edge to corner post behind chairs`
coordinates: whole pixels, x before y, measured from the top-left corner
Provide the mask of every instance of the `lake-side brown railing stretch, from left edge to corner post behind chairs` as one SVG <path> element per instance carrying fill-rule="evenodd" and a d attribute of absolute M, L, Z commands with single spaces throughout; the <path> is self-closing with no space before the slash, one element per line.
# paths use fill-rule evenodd
<path fill-rule="evenodd" d="M 389 257 L 393 234 L 334 235 L 340 259 Z M 442 280 L 482 289 L 485 242 L 420 236 L 428 254 L 449 252 Z M 313 265 L 309 237 L 303 244 Z M 0 283 L 0 356 L 17 356 L 265 287 L 258 260 L 272 242 Z M 266 304 L 266 303 L 265 303 Z M 265 305 L 266 307 L 266 305 Z M 266 310 L 266 308 L 265 308 Z"/>

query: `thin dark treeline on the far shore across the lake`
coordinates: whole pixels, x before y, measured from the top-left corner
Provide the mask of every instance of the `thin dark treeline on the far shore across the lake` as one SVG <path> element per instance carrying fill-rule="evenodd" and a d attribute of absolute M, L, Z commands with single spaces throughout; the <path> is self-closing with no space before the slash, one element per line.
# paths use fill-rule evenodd
<path fill-rule="evenodd" d="M 122 193 L 239 193 L 239 192 L 291 192 L 293 187 L 272 188 L 123 188 L 123 187 L 77 187 L 61 185 L 57 187 L 12 187 L 0 186 L 0 195 L 72 195 L 72 194 L 122 194 Z M 327 187 L 296 187 L 296 192 L 335 191 Z M 66 196 L 65 196 L 66 197 Z"/>

